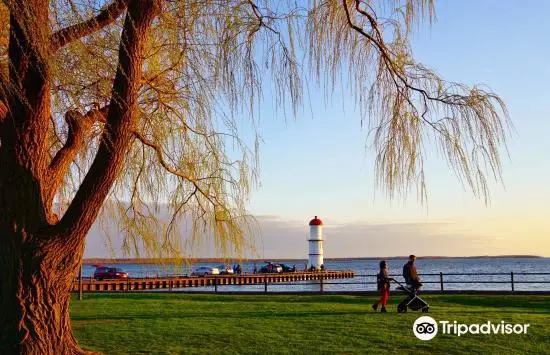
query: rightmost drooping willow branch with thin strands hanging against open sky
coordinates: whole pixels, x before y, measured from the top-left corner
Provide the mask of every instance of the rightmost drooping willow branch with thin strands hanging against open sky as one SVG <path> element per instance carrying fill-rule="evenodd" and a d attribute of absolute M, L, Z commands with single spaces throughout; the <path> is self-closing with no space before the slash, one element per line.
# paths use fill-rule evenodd
<path fill-rule="evenodd" d="M 422 142 L 433 133 L 458 178 L 488 203 L 485 171 L 502 178 L 499 149 L 506 146 L 509 120 L 502 99 L 484 88 L 447 82 L 416 62 L 400 24 L 386 22 L 397 33 L 388 41 L 391 32 L 369 2 L 342 0 L 341 7 L 347 26 L 377 52 L 376 80 L 368 95 L 370 113 L 380 117 L 374 127 L 377 180 L 390 197 L 418 181 L 424 201 Z"/>

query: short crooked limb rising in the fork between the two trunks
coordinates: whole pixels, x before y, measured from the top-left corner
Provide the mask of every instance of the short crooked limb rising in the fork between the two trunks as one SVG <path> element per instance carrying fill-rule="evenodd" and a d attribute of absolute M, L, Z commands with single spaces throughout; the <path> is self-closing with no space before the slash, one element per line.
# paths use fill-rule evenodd
<path fill-rule="evenodd" d="M 65 141 L 65 145 L 57 151 L 48 166 L 48 173 L 46 175 L 48 179 L 46 186 L 48 189 L 45 191 L 44 197 L 46 206 L 51 206 L 57 189 L 63 183 L 69 167 L 78 152 L 82 149 L 93 124 L 96 122 L 105 123 L 108 112 L 109 105 L 106 105 L 100 109 L 90 110 L 84 115 L 74 110 L 67 111 L 65 114 L 65 121 L 69 127 L 67 140 Z"/>

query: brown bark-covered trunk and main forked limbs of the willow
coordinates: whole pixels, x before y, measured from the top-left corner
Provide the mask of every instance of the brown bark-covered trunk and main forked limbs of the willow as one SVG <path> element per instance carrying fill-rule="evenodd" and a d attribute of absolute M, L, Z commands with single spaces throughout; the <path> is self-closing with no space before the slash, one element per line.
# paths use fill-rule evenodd
<path fill-rule="evenodd" d="M 102 140 L 59 221 L 51 213 L 55 190 L 82 143 L 77 137 L 82 127 L 72 127 L 73 136 L 51 161 L 46 144 L 51 47 L 45 40 L 50 33 L 40 28 L 48 24 L 48 1 L 10 4 L 10 84 L 15 89 L 7 100 L 9 110 L 0 107 L 7 112 L 0 129 L 0 354 L 84 354 L 71 329 L 71 288 L 86 234 L 134 137 L 143 50 L 160 0 L 129 1 Z"/>

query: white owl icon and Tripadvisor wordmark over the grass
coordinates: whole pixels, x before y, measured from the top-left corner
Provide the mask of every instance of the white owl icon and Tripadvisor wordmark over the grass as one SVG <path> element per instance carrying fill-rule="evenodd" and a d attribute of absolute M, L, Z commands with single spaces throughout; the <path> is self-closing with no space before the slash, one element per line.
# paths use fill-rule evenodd
<path fill-rule="evenodd" d="M 439 324 L 438 324 L 439 323 Z M 413 324 L 413 333 L 420 340 L 433 339 L 438 330 L 442 334 L 461 336 L 464 334 L 527 334 L 530 324 L 511 324 L 504 321 L 482 324 L 463 324 L 457 321 L 440 320 L 428 316 L 419 317 Z"/>

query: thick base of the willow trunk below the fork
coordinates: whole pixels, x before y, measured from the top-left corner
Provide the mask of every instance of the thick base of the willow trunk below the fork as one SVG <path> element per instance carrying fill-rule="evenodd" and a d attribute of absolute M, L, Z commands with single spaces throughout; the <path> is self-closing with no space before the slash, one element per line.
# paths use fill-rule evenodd
<path fill-rule="evenodd" d="M 0 354 L 86 353 L 69 318 L 83 244 L 66 245 L 62 238 L 40 242 L 25 230 L 6 233 L 6 227 L 1 226 L 0 238 Z"/>

